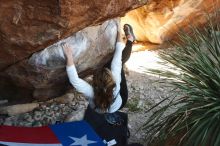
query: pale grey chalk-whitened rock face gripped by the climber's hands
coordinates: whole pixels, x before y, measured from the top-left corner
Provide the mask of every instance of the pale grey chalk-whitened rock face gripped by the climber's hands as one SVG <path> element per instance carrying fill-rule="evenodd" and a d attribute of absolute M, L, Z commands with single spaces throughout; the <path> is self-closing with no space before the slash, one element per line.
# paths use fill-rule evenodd
<path fill-rule="evenodd" d="M 113 52 L 118 25 L 117 19 L 114 19 L 100 26 L 87 27 L 39 53 L 34 53 L 28 62 L 45 69 L 65 67 L 66 61 L 60 45 L 65 42 L 73 49 L 73 58 L 78 65 L 78 71 L 97 66 L 106 54 Z"/>

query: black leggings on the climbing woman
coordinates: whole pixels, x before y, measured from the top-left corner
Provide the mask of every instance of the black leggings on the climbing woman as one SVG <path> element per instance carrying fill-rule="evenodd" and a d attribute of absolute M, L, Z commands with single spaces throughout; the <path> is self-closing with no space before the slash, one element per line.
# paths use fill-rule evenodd
<path fill-rule="evenodd" d="M 126 42 L 126 45 L 125 45 L 125 48 L 122 52 L 122 68 L 121 68 L 121 83 L 120 83 L 120 95 L 121 95 L 121 98 L 122 98 L 122 105 L 120 107 L 120 109 L 122 109 L 127 100 L 128 100 L 128 87 L 127 87 L 127 81 L 126 81 L 126 78 L 125 78 L 125 73 L 124 73 L 124 70 L 123 70 L 123 66 L 124 66 L 124 63 L 130 58 L 131 56 L 131 50 L 132 50 L 132 42 L 131 41 L 127 41 Z M 111 62 L 112 62 L 112 59 L 107 62 L 104 67 L 107 67 L 107 68 L 111 68 Z"/>

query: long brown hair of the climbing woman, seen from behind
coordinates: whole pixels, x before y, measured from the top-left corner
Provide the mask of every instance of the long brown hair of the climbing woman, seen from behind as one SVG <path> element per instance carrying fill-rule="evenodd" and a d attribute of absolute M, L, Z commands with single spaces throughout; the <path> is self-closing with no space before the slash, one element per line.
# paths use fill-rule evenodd
<path fill-rule="evenodd" d="M 112 77 L 112 72 L 108 68 L 99 69 L 93 76 L 94 87 L 94 103 L 96 108 L 101 111 L 109 109 L 113 97 L 113 88 L 115 81 Z"/>

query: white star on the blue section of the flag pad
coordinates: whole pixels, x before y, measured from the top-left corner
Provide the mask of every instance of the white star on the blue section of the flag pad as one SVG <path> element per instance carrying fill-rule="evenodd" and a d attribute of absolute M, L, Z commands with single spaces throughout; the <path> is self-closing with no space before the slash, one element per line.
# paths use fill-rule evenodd
<path fill-rule="evenodd" d="M 87 135 L 84 135 L 81 138 L 76 138 L 71 136 L 69 136 L 69 138 L 74 140 L 74 143 L 72 143 L 70 146 L 74 146 L 74 145 L 88 146 L 88 144 L 97 143 L 97 141 L 88 140 Z"/>

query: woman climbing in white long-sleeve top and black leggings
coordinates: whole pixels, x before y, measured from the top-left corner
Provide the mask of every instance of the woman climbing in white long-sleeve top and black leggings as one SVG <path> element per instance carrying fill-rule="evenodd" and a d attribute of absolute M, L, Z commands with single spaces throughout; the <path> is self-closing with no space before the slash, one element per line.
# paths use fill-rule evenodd
<path fill-rule="evenodd" d="M 121 33 L 118 32 L 113 58 L 93 74 L 92 85 L 79 78 L 71 47 L 68 44 L 61 44 L 67 60 L 66 71 L 70 83 L 88 99 L 92 109 L 103 113 L 107 122 L 113 125 L 121 125 L 123 122 L 116 111 L 123 108 L 128 99 L 123 65 L 129 59 L 135 41 L 132 27 L 125 24 L 123 29 L 127 39 L 126 45 L 123 43 Z"/>

